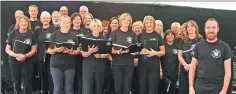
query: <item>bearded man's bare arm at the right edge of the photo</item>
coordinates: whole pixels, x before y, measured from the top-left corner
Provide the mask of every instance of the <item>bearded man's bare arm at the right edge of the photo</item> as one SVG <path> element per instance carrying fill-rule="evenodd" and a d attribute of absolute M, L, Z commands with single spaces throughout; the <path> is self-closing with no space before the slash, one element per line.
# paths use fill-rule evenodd
<path fill-rule="evenodd" d="M 224 85 L 221 91 L 227 92 L 231 79 L 231 58 L 224 61 L 224 69 L 225 69 Z"/>

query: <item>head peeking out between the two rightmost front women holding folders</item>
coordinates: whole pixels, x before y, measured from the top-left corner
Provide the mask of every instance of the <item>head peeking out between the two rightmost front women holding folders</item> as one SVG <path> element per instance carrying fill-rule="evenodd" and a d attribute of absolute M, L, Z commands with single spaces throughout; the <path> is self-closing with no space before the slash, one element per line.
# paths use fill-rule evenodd
<path fill-rule="evenodd" d="M 139 35 L 143 32 L 143 22 L 142 21 L 136 21 L 132 25 L 132 30 L 136 35 Z"/>

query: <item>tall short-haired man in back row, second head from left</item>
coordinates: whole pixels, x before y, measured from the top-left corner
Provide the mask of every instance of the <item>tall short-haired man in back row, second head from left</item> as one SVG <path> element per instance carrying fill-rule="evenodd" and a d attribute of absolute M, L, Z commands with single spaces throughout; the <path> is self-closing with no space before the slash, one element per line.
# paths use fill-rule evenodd
<path fill-rule="evenodd" d="M 29 6 L 30 24 L 31 30 L 34 32 L 41 25 L 40 20 L 38 20 L 38 7 L 36 5 Z"/>

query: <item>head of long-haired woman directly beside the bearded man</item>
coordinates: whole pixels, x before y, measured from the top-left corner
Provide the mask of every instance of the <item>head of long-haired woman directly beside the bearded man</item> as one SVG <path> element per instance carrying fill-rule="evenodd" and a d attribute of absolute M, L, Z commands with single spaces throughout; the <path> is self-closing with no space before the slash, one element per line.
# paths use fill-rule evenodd
<path fill-rule="evenodd" d="M 200 37 L 198 25 L 194 20 L 189 20 L 186 24 L 186 37 L 189 38 L 190 34 L 195 34 L 197 38 Z"/>

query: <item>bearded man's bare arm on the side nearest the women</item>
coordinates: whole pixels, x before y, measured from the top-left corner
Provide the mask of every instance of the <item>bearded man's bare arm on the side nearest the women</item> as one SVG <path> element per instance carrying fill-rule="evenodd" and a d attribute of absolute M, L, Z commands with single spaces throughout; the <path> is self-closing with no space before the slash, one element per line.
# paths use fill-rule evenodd
<path fill-rule="evenodd" d="M 192 57 L 191 66 L 189 69 L 189 88 L 190 89 L 193 88 L 196 67 L 197 67 L 197 59 Z"/>

